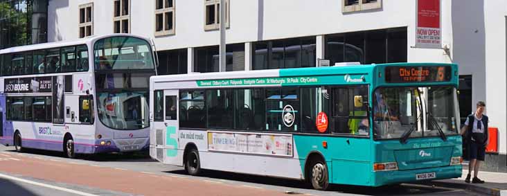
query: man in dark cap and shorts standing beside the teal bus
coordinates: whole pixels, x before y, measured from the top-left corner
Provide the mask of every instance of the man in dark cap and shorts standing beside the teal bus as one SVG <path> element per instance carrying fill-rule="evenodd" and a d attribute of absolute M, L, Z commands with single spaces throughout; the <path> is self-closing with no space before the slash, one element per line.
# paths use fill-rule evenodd
<path fill-rule="evenodd" d="M 488 116 L 484 115 L 486 104 L 482 101 L 477 102 L 477 110 L 474 114 L 470 114 L 465 121 L 465 126 L 461 128 L 461 135 L 465 136 L 468 143 L 468 156 L 470 163 L 468 164 L 468 175 L 465 179 L 466 183 L 470 183 L 470 173 L 474 170 L 474 178 L 472 183 L 484 183 L 477 177 L 481 161 L 484 161 L 486 154 L 486 145 L 488 145 Z"/>

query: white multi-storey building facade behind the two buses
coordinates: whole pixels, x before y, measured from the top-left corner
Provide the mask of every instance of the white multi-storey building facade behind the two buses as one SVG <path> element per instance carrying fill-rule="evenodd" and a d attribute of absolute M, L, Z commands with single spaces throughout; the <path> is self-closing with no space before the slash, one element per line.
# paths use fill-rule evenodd
<path fill-rule="evenodd" d="M 159 74 L 220 71 L 220 0 L 49 1 L 48 41 L 152 37 Z M 462 119 L 485 100 L 506 170 L 506 15 L 501 0 L 441 1 L 442 48 L 416 47 L 416 0 L 226 0 L 225 71 L 335 62 L 455 62 Z M 463 123 L 464 121 L 462 121 Z M 503 162 L 501 162 L 503 160 Z M 488 162 L 488 161 L 487 161 Z M 501 168 L 503 167 L 503 168 Z"/>

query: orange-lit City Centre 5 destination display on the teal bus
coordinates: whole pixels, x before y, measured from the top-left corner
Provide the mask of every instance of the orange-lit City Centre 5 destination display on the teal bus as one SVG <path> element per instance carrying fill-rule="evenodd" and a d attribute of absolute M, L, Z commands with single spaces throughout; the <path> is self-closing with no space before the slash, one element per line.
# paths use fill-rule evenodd
<path fill-rule="evenodd" d="M 386 82 L 447 82 L 451 80 L 450 66 L 388 66 Z"/>

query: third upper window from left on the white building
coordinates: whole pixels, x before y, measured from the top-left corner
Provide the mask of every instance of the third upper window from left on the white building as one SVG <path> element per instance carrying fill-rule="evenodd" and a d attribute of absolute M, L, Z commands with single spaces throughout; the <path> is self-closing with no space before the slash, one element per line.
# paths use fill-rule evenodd
<path fill-rule="evenodd" d="M 155 36 L 175 34 L 175 1 L 155 0 Z"/>

